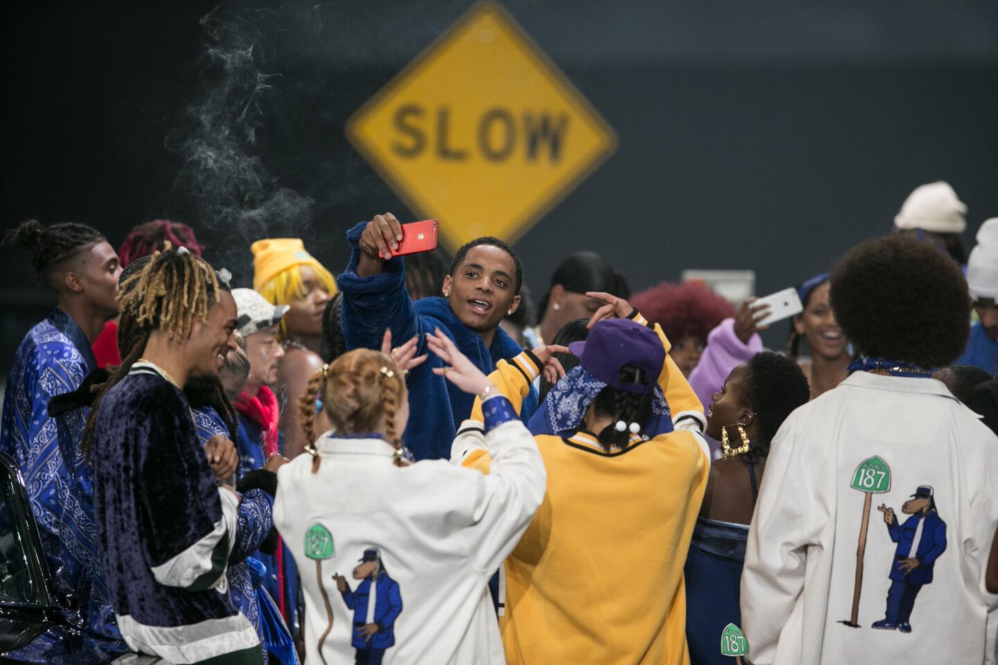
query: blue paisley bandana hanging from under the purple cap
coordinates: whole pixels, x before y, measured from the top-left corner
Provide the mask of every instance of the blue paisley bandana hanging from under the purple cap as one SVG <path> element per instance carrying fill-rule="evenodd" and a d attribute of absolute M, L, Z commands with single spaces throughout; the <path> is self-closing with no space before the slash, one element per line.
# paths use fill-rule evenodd
<path fill-rule="evenodd" d="M 606 387 L 607 384 L 579 365 L 555 384 L 544 398 L 544 404 L 527 423 L 527 428 L 534 436 L 540 434 L 560 436 L 564 432 L 577 432 L 582 427 L 589 405 Z M 674 430 L 673 415 L 669 404 L 666 403 L 662 388 L 657 385 L 652 395 L 652 416 L 645 424 L 644 432 L 649 439 Z"/>

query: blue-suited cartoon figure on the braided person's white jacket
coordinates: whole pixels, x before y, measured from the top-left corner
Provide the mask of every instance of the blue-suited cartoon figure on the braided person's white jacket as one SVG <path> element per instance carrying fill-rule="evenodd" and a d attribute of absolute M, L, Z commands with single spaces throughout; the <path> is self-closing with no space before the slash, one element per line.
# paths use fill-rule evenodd
<path fill-rule="evenodd" d="M 346 579 L 332 576 L 346 606 L 353 610 L 353 648 L 356 665 L 380 665 L 384 651 L 395 644 L 395 619 L 402 612 L 398 582 L 388 576 L 376 548 L 364 550 L 353 579 L 361 580 L 355 591 Z"/>

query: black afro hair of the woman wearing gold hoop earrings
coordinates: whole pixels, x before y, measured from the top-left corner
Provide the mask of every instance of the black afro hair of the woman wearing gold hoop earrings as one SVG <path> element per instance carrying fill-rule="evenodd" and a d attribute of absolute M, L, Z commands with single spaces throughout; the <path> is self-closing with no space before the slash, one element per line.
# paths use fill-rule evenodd
<path fill-rule="evenodd" d="M 756 443 L 768 448 L 786 417 L 810 400 L 810 386 L 800 366 L 778 353 L 756 353 L 748 365 L 745 400 L 758 422 Z"/>

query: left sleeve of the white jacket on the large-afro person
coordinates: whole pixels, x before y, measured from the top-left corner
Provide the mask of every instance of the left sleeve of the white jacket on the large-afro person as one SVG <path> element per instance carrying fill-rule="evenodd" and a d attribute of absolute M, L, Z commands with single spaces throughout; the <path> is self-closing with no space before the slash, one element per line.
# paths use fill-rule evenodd
<path fill-rule="evenodd" d="M 749 527 L 742 573 L 742 629 L 753 665 L 772 663 L 780 633 L 804 586 L 813 488 L 791 415 L 773 438 Z M 791 641 L 799 636 L 787 636 Z"/>

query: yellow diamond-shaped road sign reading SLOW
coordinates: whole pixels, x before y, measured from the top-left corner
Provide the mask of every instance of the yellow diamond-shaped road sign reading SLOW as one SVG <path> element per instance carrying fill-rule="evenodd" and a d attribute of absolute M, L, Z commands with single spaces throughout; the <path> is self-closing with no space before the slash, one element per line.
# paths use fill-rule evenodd
<path fill-rule="evenodd" d="M 475 5 L 350 118 L 353 146 L 453 249 L 513 241 L 617 147 L 499 5 Z"/>

